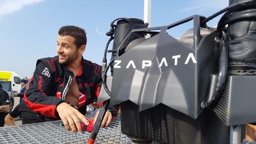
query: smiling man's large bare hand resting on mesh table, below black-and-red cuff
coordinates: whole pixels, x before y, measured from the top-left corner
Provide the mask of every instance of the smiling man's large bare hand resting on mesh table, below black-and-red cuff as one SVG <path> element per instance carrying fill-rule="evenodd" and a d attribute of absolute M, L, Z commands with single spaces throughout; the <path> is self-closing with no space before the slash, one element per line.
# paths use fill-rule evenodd
<path fill-rule="evenodd" d="M 59 117 L 62 119 L 66 129 L 72 130 L 73 133 L 77 132 L 77 130 L 78 132 L 82 132 L 79 119 L 82 120 L 86 125 L 89 124 L 88 120 L 83 114 L 67 103 L 57 105 L 56 110 L 59 113 Z M 68 123 L 70 127 L 68 126 Z"/>

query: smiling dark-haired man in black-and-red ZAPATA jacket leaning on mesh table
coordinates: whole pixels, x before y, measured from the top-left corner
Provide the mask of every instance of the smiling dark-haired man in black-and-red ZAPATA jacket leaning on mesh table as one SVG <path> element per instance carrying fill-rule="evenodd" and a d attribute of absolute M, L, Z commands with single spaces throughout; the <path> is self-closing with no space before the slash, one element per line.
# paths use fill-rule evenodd
<path fill-rule="evenodd" d="M 45 117 L 62 119 L 66 129 L 81 132 L 79 119 L 89 124 L 84 116 L 86 107 L 98 97 L 101 66 L 82 57 L 87 43 L 84 29 L 64 26 L 58 34 L 58 56 L 37 60 L 24 101 Z M 111 118 L 107 112 L 102 125 L 108 126 Z"/>

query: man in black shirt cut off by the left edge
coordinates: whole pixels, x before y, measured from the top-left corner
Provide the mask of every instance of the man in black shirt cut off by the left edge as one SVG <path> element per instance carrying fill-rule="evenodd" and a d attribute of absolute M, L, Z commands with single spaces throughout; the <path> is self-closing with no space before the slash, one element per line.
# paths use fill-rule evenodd
<path fill-rule="evenodd" d="M 9 95 L 0 84 L 0 127 L 4 126 L 5 114 L 9 110 Z"/>

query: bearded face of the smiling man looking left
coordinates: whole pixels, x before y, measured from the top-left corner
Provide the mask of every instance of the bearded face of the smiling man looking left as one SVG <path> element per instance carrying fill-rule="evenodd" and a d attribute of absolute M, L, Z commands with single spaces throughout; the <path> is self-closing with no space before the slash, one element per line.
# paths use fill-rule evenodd
<path fill-rule="evenodd" d="M 59 63 L 63 65 L 68 65 L 78 59 L 78 49 L 75 45 L 75 38 L 72 36 L 58 36 L 57 53 Z"/>

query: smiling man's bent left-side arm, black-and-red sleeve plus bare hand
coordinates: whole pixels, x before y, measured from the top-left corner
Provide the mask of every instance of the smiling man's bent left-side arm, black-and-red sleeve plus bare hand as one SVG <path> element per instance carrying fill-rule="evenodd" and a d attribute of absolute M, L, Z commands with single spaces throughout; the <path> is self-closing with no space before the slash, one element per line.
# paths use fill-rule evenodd
<path fill-rule="evenodd" d="M 51 67 L 39 60 L 36 71 L 24 94 L 25 104 L 33 111 L 39 112 L 44 116 L 57 117 L 58 115 L 66 129 L 72 129 L 72 132 L 76 132 L 76 130 L 81 132 L 79 119 L 87 125 L 89 124 L 88 120 L 61 98 L 55 97 L 55 94 L 53 94 L 54 87 L 55 76 L 53 71 L 51 71 Z M 68 123 L 71 127 L 68 126 Z"/>

